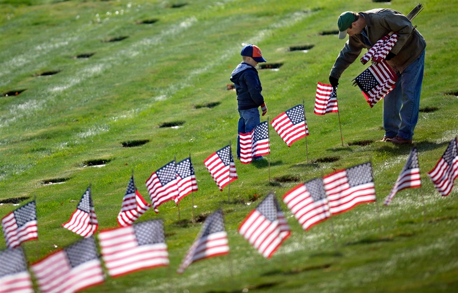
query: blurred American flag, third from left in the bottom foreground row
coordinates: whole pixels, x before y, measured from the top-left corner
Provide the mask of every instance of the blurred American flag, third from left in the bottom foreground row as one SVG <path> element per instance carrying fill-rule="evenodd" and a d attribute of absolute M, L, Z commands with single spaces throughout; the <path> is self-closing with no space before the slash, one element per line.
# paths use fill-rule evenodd
<path fill-rule="evenodd" d="M 168 266 L 162 220 L 101 231 L 98 237 L 102 258 L 111 277 Z"/>

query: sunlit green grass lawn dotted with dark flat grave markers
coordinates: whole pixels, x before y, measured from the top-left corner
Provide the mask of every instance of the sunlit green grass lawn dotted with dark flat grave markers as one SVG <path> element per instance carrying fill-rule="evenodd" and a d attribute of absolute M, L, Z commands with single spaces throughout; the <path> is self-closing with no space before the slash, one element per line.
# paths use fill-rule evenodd
<path fill-rule="evenodd" d="M 180 8 L 174 4 L 187 3 Z M 422 2 L 423 3 L 423 2 Z M 425 1 L 413 21 L 427 42 L 425 76 L 414 140 L 422 188 L 389 193 L 410 147 L 388 143 L 354 145 L 382 138 L 382 105 L 369 108 L 351 80 L 365 66 L 355 62 L 339 86 L 344 147 L 336 114 L 312 113 L 316 82 L 327 82 L 344 45 L 334 35 L 338 15 L 347 10 L 388 7 L 407 14 L 417 2 L 393 1 L 0 1 L 0 199 L 37 198 L 39 241 L 23 244 L 31 262 L 79 239 L 61 227 L 91 183 L 100 229 L 117 226 L 130 175 L 148 197 L 143 182 L 165 163 L 191 153 L 199 191 L 196 215 L 222 208 L 231 254 L 192 264 L 175 273 L 202 224 L 183 224 L 172 202 L 162 218 L 170 266 L 146 270 L 86 291 L 116 292 L 454 292 L 458 290 L 457 189 L 441 197 L 426 172 L 458 134 L 455 1 Z M 118 12 L 118 13 L 117 13 Z M 158 19 L 152 24 L 137 24 Z M 120 42 L 111 38 L 128 37 Z M 271 177 L 267 163 L 236 162 L 239 180 L 220 192 L 203 160 L 236 141 L 237 103 L 226 84 L 241 62 L 242 43 L 254 43 L 279 71 L 260 71 L 269 119 L 305 99 L 310 136 L 288 148 L 271 129 Z M 307 53 L 290 46 L 314 45 Z M 89 58 L 79 54 L 94 53 Z M 43 72 L 59 71 L 48 76 Z M 219 104 L 207 107 L 211 103 Z M 264 117 L 263 120 L 266 120 Z M 184 122 L 182 127 L 160 128 Z M 124 148 L 123 142 L 149 140 Z M 235 151 L 235 146 L 233 147 Z M 323 162 L 337 157 L 334 162 Z M 109 162 L 84 167 L 90 160 Z M 278 199 L 304 182 L 335 168 L 371 161 L 377 204 L 363 204 L 304 232 L 282 204 L 293 230 L 271 259 L 264 259 L 237 233 L 257 202 L 274 191 Z M 64 184 L 42 182 L 68 179 Z M 280 182 L 293 179 L 296 182 Z M 427 221 L 423 221 L 424 196 Z M 0 217 L 17 206 L 0 206 Z M 380 214 L 378 213 L 380 211 Z M 181 219 L 190 220 L 191 198 L 183 199 Z M 380 222 L 379 222 L 380 218 Z M 379 230 L 381 228 L 381 231 Z M 58 248 L 55 248 L 58 246 Z M 5 242 L 0 243 L 5 248 Z"/>

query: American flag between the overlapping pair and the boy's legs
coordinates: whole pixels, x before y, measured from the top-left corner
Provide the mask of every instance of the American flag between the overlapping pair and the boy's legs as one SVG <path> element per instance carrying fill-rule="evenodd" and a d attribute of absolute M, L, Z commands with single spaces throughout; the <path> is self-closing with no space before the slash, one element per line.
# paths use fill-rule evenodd
<path fill-rule="evenodd" d="M 205 159 L 204 165 L 221 191 L 224 186 L 238 179 L 230 144 L 211 154 Z"/>

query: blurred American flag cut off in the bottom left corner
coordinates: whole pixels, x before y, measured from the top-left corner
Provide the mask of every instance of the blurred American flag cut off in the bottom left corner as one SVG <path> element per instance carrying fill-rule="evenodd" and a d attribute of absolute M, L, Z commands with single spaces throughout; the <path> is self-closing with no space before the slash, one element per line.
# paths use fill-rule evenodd
<path fill-rule="evenodd" d="M 27 271 L 24 252 L 18 247 L 0 251 L 0 291 L 33 293 L 32 278 Z"/>

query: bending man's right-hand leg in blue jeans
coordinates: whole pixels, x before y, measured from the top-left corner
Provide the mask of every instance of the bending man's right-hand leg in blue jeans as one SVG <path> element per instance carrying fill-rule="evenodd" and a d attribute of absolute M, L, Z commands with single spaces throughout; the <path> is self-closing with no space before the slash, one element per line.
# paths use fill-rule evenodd
<path fill-rule="evenodd" d="M 397 136 L 412 140 L 418 122 L 421 83 L 423 82 L 424 51 L 418 59 L 403 71 L 403 107 L 400 110 L 401 124 Z"/>

